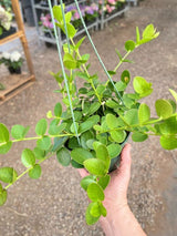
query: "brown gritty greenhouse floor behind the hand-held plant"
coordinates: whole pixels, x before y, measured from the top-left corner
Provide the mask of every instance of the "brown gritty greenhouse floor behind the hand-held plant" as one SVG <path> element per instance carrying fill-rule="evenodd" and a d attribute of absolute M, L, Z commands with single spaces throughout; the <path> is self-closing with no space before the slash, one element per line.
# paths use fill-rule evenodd
<path fill-rule="evenodd" d="M 112 70 L 118 60 L 115 49 L 123 52 L 124 42 L 135 39 L 136 25 L 143 29 L 154 23 L 160 31 L 158 39 L 142 45 L 129 55 L 134 64 L 125 63 L 121 68 L 121 71 L 128 69 L 132 78 L 140 75 L 153 82 L 153 95 L 144 99 L 152 107 L 153 115 L 154 101 L 158 98 L 170 99 L 169 88 L 177 91 L 176 12 L 176 0 L 144 0 L 126 12 L 124 18 L 116 18 L 103 31 L 92 33 L 106 68 Z M 0 106 L 0 122 L 9 129 L 14 124 L 30 125 L 30 135 L 33 135 L 37 121 L 45 117 L 46 112 L 61 101 L 59 94 L 53 93 L 58 86 L 49 74 L 50 71 L 58 72 L 60 63 L 55 47 L 39 45 L 34 29 L 27 30 L 37 81 Z M 19 47 L 15 43 L 15 49 Z M 91 70 L 98 71 L 105 80 L 87 39 L 82 45 L 82 52 L 91 53 Z M 32 142 L 17 143 L 8 155 L 1 156 L 0 165 L 13 166 L 21 173 L 21 151 L 33 145 Z M 177 152 L 162 150 L 155 137 L 132 146 L 131 208 L 147 235 L 176 236 Z M 55 157 L 50 158 L 42 164 L 40 179 L 24 176 L 9 188 L 8 202 L 0 209 L 0 236 L 103 236 L 98 224 L 92 227 L 85 224 L 86 205 L 87 197 L 80 187 L 77 172 L 62 167 Z"/>

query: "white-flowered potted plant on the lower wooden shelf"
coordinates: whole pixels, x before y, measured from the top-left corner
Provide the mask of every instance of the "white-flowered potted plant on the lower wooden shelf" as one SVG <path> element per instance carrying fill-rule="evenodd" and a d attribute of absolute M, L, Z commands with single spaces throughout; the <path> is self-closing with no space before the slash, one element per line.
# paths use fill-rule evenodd
<path fill-rule="evenodd" d="M 21 74 L 23 59 L 18 51 L 12 53 L 3 52 L 0 57 L 0 64 L 4 64 L 11 74 Z"/>

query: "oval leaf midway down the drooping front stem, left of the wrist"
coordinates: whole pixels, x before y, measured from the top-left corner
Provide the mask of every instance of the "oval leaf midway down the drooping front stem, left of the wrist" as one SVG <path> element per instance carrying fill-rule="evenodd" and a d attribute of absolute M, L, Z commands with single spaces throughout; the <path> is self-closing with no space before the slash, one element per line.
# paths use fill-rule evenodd
<path fill-rule="evenodd" d="M 102 187 L 96 184 L 96 183 L 92 183 L 87 186 L 87 196 L 91 201 L 93 202 L 97 202 L 97 201 L 104 201 L 104 193 Z"/>

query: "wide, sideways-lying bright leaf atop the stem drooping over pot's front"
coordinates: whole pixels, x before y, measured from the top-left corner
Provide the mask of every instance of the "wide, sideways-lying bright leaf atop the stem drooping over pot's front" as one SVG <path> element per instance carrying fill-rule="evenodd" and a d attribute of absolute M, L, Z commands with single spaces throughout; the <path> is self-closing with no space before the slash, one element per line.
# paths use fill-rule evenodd
<path fill-rule="evenodd" d="M 85 168 L 93 175 L 104 176 L 107 173 L 107 168 L 102 160 L 90 158 L 84 161 Z"/>

